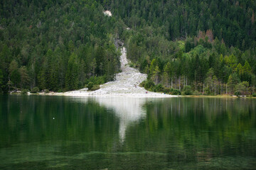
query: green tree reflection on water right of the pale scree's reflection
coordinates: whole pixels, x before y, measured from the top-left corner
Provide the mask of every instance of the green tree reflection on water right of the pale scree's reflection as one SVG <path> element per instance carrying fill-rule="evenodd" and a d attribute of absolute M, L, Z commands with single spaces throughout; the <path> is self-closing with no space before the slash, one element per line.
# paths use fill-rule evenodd
<path fill-rule="evenodd" d="M 129 129 L 131 150 L 167 152 L 168 162 L 256 154 L 255 140 L 250 140 L 256 123 L 255 100 L 171 98 L 146 103 L 146 111 L 143 123 Z"/>

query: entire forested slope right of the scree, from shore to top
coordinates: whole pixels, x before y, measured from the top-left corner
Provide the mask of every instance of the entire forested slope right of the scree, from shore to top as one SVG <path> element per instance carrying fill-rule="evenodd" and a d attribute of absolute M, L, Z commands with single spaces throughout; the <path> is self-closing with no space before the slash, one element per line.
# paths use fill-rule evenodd
<path fill-rule="evenodd" d="M 132 28 L 124 31 L 127 57 L 156 86 L 181 91 L 189 85 L 189 94 L 207 95 L 233 94 L 240 81 L 255 87 L 256 6 L 252 1 L 118 2 L 125 10 L 113 4 L 114 13 Z M 223 4 L 225 8 L 217 8 Z M 156 86 L 146 88 L 157 91 Z"/>

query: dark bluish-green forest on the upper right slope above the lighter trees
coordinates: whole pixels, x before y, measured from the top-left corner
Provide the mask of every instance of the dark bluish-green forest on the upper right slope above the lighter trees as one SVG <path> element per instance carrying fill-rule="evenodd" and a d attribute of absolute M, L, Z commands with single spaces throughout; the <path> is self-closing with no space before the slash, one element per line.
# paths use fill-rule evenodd
<path fill-rule="evenodd" d="M 167 40 L 176 40 L 198 36 L 201 30 L 214 35 L 218 40 L 223 39 L 228 47 L 239 47 L 242 50 L 255 47 L 255 1 L 136 0 L 130 3 L 117 0 L 110 8 L 130 28 L 144 28 L 149 36 L 155 33 L 163 35 Z M 198 37 L 205 40 L 204 37 Z M 210 36 L 207 41 L 212 42 L 213 38 Z M 210 45 L 207 41 L 206 46 Z M 191 48 L 193 46 L 190 42 L 186 43 L 186 52 Z"/>

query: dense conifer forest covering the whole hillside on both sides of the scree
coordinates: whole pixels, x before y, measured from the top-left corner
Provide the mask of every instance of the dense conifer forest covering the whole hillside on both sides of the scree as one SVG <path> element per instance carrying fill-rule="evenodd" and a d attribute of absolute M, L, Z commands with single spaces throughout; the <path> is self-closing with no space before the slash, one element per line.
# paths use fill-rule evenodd
<path fill-rule="evenodd" d="M 102 11 L 112 11 L 112 17 Z M 150 91 L 252 94 L 255 1 L 0 2 L 0 90 L 68 91 L 119 72 L 120 39 Z"/>

